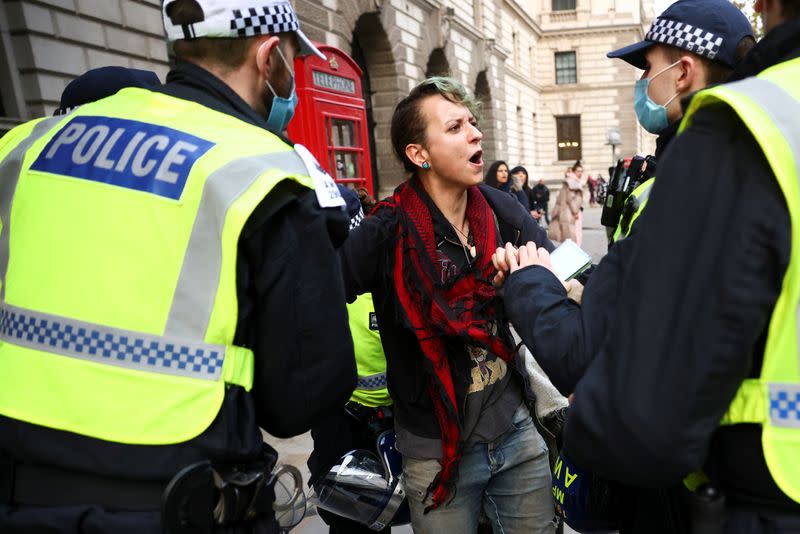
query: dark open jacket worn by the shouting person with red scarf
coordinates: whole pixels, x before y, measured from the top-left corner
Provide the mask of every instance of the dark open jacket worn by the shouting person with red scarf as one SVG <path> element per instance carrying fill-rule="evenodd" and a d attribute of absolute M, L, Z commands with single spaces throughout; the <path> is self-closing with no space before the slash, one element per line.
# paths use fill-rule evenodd
<path fill-rule="evenodd" d="M 522 245 L 534 241 L 553 249 L 545 231 L 516 198 L 490 186 L 479 187 L 497 217 L 503 242 Z M 373 294 L 396 420 L 417 436 L 439 439 L 441 432 L 426 389 L 425 357 L 416 336 L 403 324 L 393 289 L 391 266 L 396 229 L 396 215 L 379 210 L 350 233 L 340 254 L 345 292 L 349 302 L 361 293 Z M 455 234 L 452 239 L 458 242 Z M 464 395 L 461 392 L 459 399 L 463 400 Z"/>

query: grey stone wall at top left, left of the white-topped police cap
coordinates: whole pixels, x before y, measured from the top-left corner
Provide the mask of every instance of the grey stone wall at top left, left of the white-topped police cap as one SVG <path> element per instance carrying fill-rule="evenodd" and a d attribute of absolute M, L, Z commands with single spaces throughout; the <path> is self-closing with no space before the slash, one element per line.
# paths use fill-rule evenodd
<path fill-rule="evenodd" d="M 89 69 L 167 73 L 159 0 L 0 0 L 0 131 L 50 115 Z"/>

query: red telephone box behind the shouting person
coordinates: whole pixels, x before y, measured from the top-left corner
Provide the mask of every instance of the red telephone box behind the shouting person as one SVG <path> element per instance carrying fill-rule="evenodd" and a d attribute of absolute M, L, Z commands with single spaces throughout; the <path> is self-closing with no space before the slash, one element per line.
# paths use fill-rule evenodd
<path fill-rule="evenodd" d="M 337 183 L 365 187 L 374 196 L 361 69 L 338 48 L 315 44 L 327 60 L 312 55 L 295 61 L 300 102 L 287 133 Z"/>

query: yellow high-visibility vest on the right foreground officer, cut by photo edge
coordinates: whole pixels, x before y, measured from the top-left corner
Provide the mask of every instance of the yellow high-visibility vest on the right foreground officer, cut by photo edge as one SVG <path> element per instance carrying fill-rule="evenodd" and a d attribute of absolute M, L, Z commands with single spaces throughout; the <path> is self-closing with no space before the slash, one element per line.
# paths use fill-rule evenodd
<path fill-rule="evenodd" d="M 761 374 L 742 383 L 722 424 L 762 425 L 770 475 L 800 502 L 800 59 L 701 91 L 681 131 L 699 109 L 719 102 L 739 115 L 759 144 L 783 191 L 792 225 L 789 268 L 770 320 Z"/>

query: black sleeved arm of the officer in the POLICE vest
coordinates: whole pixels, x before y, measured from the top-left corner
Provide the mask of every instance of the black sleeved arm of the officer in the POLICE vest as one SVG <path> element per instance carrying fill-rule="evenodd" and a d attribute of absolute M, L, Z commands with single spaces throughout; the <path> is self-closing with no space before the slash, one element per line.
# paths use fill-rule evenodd
<path fill-rule="evenodd" d="M 342 225 L 344 233 L 342 233 Z M 256 356 L 259 425 L 289 437 L 347 402 L 356 382 L 335 245 L 347 219 L 321 209 L 313 191 L 289 201 L 245 239 Z"/>

